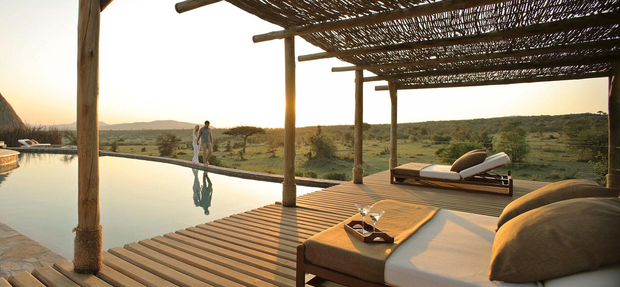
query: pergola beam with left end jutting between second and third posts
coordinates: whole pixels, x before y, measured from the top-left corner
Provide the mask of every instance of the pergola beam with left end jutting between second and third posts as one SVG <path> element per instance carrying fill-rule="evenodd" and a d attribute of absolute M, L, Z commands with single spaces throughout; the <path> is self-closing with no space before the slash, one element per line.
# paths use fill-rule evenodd
<path fill-rule="evenodd" d="M 425 41 L 398 43 L 392 45 L 343 49 L 339 51 L 307 54 L 301 55 L 297 59 L 298 61 L 311 61 L 316 59 L 327 59 L 334 57 L 342 58 L 362 54 L 402 51 L 407 49 L 435 48 L 442 46 L 466 45 L 491 41 L 510 40 L 515 38 L 523 38 L 526 36 L 544 35 L 549 33 L 566 32 L 570 30 L 597 27 L 602 25 L 618 24 L 618 22 L 620 22 L 618 19 L 620 19 L 620 12 L 607 12 L 602 14 L 593 14 L 582 17 L 575 17 L 571 19 L 557 20 L 516 28 L 508 28 L 506 30 L 486 32 L 474 35 L 464 35 L 450 38 L 440 38 Z"/>

